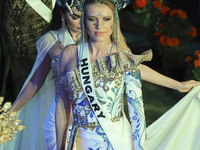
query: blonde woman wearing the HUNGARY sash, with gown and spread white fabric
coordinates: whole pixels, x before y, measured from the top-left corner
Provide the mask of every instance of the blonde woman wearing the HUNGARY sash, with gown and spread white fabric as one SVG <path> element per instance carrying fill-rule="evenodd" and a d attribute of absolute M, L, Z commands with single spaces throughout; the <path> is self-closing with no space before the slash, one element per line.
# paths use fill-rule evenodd
<path fill-rule="evenodd" d="M 200 83 L 194 80 L 178 82 L 142 65 L 143 61 L 151 59 L 151 51 L 142 55 L 129 52 L 116 10 L 123 6 L 123 1 L 86 0 L 82 4 L 81 43 L 65 47 L 60 57 L 56 104 L 58 149 L 65 148 L 71 110 L 74 120 L 70 150 L 74 143 L 77 150 L 199 149 L 200 134 L 195 131 L 200 126 L 199 114 L 196 114 L 199 113 L 200 89 L 192 88 Z M 147 135 L 141 79 L 180 92 L 192 89 L 190 96 L 187 95 L 147 129 Z M 124 89 L 131 124 L 124 115 Z M 191 113 L 191 110 L 195 112 Z M 191 123 L 193 118 L 197 121 Z M 184 134 L 190 132 L 185 119 L 192 125 L 189 137 Z M 186 144 L 180 141 L 189 144 L 184 147 L 181 144 Z"/>

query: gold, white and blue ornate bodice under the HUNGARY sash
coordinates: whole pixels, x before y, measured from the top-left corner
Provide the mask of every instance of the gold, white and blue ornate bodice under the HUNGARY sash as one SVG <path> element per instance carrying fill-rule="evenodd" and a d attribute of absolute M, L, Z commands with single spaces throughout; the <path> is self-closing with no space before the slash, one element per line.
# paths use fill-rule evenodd
<path fill-rule="evenodd" d="M 108 59 L 111 59 L 111 65 L 115 66 L 116 55 L 110 58 L 98 59 L 92 63 L 95 94 L 110 119 L 120 116 L 123 111 L 122 99 L 127 73 L 131 76 L 139 74 L 139 64 L 149 58 L 151 59 L 149 54 L 133 55 L 123 51 L 119 53 L 119 62 L 115 71 L 110 71 L 107 64 Z M 136 80 L 138 82 L 138 76 Z M 97 118 L 83 92 L 79 70 L 67 72 L 62 77 L 61 84 L 69 92 L 74 122 L 77 124 L 97 122 Z"/>

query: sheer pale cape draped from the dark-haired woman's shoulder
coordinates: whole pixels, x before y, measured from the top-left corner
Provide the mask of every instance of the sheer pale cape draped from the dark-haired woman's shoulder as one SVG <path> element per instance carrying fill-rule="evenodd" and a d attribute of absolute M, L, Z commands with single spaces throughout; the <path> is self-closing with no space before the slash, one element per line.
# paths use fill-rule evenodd
<path fill-rule="evenodd" d="M 65 33 L 66 40 L 64 44 L 73 44 L 74 42 L 67 29 Z M 62 34 L 61 30 L 49 31 L 38 40 L 36 43 L 38 55 L 32 71 L 26 79 L 21 91 L 26 87 L 31 77 L 48 54 L 49 49 L 56 41 L 62 39 Z M 50 70 L 41 89 L 18 112 L 17 117 L 22 120 L 20 124 L 24 125 L 25 129 L 17 133 L 14 140 L 1 144 L 0 150 L 46 150 L 47 145 L 43 134 L 43 123 L 54 96 L 55 84 L 52 70 Z"/>

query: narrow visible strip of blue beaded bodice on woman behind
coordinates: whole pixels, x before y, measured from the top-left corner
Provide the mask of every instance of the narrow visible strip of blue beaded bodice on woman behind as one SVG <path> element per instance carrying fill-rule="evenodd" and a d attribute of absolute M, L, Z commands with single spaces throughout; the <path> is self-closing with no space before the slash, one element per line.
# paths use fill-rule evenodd
<path fill-rule="evenodd" d="M 56 55 L 54 59 L 51 61 L 51 69 L 54 76 L 54 82 L 55 82 L 55 100 L 57 99 L 58 95 L 58 83 L 59 83 L 59 75 L 58 75 L 58 68 L 59 68 L 59 59 L 60 55 Z"/>

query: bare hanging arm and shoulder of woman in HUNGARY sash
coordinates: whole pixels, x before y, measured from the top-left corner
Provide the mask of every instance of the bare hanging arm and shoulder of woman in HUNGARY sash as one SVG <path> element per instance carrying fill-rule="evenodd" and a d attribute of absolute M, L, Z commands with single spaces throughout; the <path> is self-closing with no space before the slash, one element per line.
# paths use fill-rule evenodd
<path fill-rule="evenodd" d="M 59 62 L 59 76 L 60 80 L 63 76 L 66 75 L 66 67 L 71 57 L 71 50 L 66 47 L 63 49 L 60 55 L 60 62 Z M 58 87 L 58 99 L 56 102 L 56 142 L 57 142 L 57 149 L 64 150 L 65 148 L 65 141 L 66 141 L 66 134 L 68 128 L 68 122 L 71 113 L 71 101 L 69 98 L 69 94 L 66 91 L 65 87 L 59 83 Z"/>

